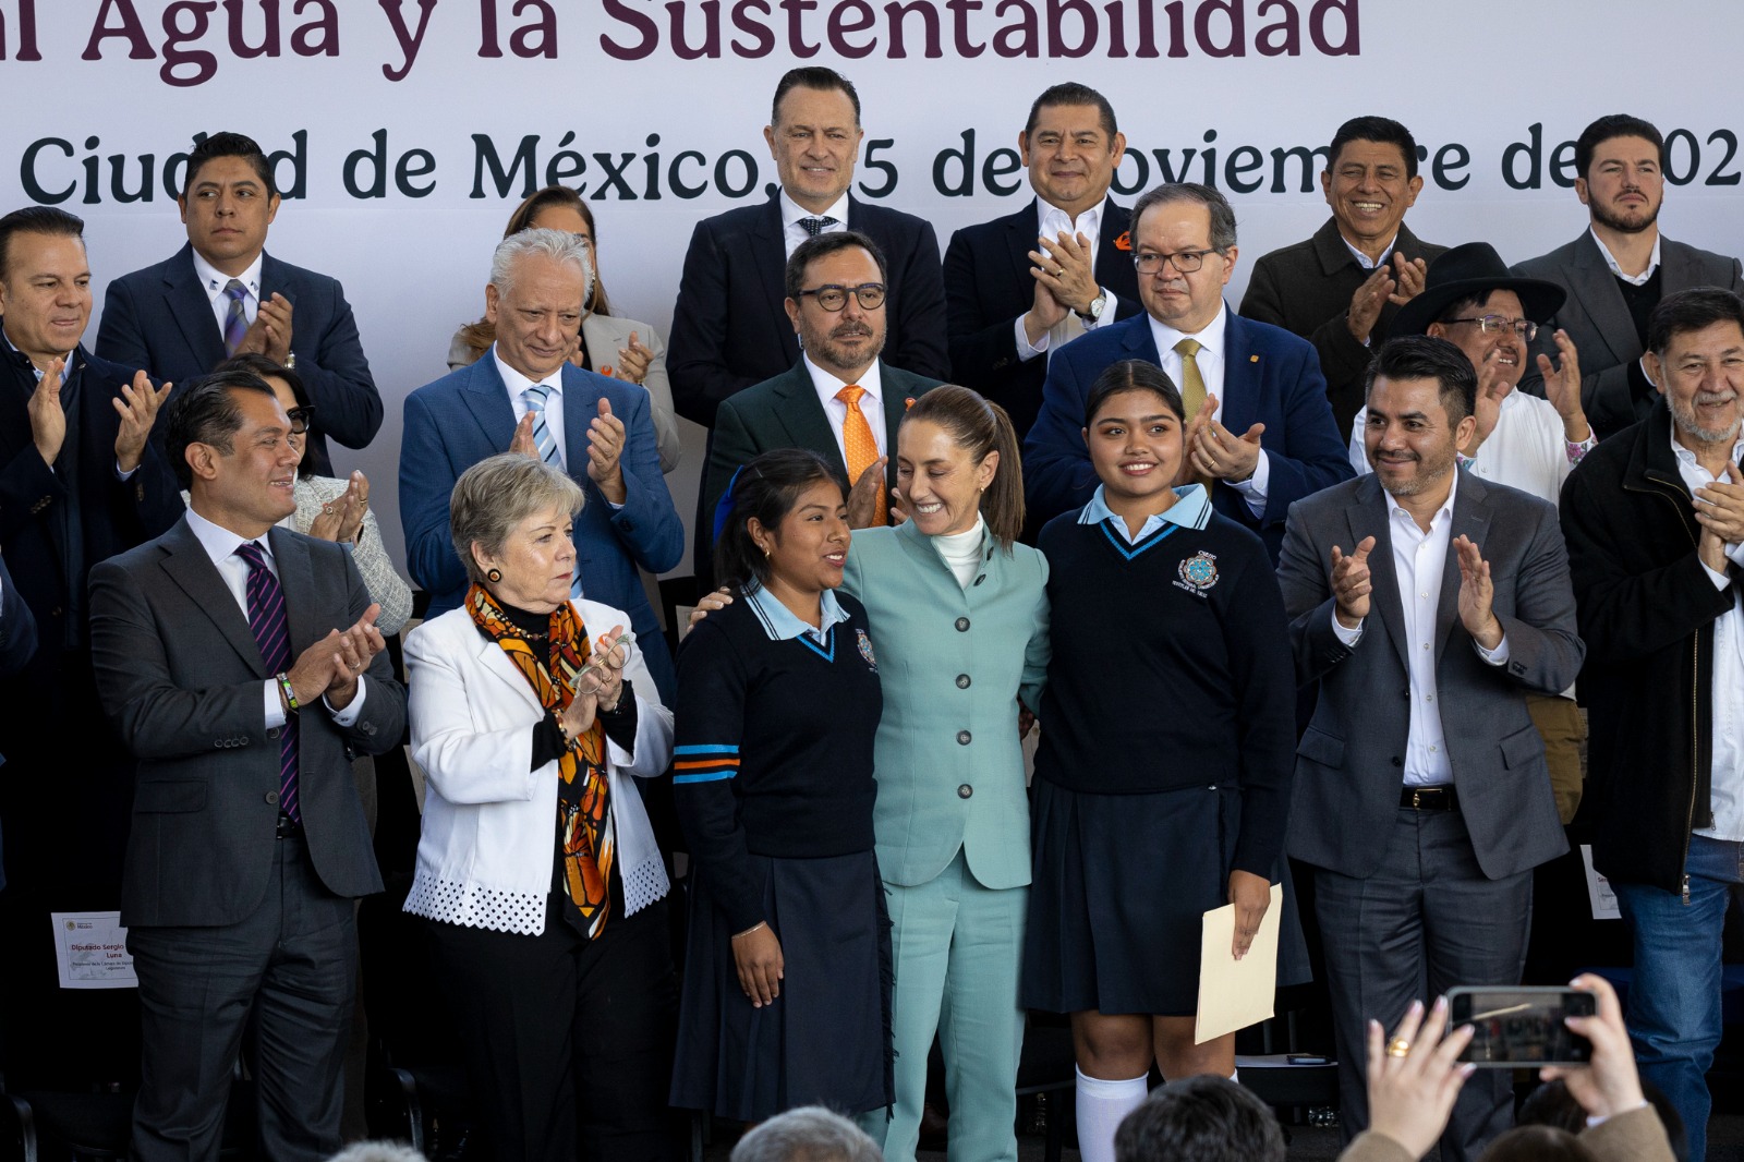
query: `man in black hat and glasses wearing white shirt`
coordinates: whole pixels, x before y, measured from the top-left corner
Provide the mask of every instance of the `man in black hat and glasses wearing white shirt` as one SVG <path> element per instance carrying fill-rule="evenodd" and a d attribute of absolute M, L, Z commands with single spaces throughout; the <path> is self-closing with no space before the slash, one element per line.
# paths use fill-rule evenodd
<path fill-rule="evenodd" d="M 1477 368 L 1477 431 L 1461 448 L 1461 468 L 1552 504 L 1568 473 L 1598 441 L 1580 408 L 1580 358 L 1566 332 L 1552 337 L 1559 363 L 1536 358 L 1549 398 L 1516 387 L 1529 366 L 1526 344 L 1564 298 L 1556 283 L 1512 277 L 1489 243 L 1467 243 L 1430 263 L 1423 293 L 1393 319 L 1393 335 L 1446 338 Z M 1359 475 L 1369 471 L 1362 441 L 1367 415 L 1367 408 L 1359 412 L 1350 433 L 1350 462 Z M 1543 736 L 1556 813 L 1566 825 L 1580 806 L 1580 742 L 1587 728 L 1573 689 L 1529 693 L 1526 708 Z"/>

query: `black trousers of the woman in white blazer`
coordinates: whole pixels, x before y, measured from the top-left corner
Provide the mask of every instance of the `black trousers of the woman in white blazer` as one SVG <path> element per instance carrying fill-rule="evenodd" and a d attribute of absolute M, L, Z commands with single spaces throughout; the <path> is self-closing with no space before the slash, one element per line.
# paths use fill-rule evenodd
<path fill-rule="evenodd" d="M 668 1162 L 678 991 L 666 902 L 595 940 L 556 895 L 539 935 L 431 921 L 434 968 L 495 1162 Z"/>

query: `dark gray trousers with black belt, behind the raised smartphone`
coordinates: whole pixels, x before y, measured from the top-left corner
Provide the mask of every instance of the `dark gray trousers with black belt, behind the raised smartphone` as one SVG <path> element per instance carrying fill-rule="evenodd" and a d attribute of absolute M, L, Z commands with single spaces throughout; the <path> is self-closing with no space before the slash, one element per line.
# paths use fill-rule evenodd
<path fill-rule="evenodd" d="M 1531 872 L 1488 879 L 1458 811 L 1399 808 L 1386 855 L 1355 879 L 1315 869 L 1338 1042 L 1345 1141 L 1369 1124 L 1366 1022 L 1392 1033 L 1411 1001 L 1456 984 L 1519 984 L 1531 928 Z M 1479 1070 L 1441 1138 L 1442 1162 L 1468 1162 L 1514 1124 L 1509 1070 Z"/>

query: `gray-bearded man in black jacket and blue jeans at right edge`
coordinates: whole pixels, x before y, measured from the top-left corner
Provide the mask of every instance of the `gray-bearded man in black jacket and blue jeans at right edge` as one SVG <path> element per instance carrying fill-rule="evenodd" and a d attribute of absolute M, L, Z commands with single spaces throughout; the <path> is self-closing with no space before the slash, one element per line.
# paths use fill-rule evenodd
<path fill-rule="evenodd" d="M 1641 1077 L 1707 1145 L 1720 935 L 1744 857 L 1744 300 L 1704 286 L 1648 323 L 1643 422 L 1563 487 L 1592 722 L 1592 862 L 1634 935 Z"/>

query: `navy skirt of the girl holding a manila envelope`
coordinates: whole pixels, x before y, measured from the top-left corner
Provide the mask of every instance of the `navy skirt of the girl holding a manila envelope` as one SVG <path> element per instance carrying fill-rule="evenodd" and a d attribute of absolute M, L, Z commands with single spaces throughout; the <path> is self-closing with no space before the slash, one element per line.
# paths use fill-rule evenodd
<path fill-rule="evenodd" d="M 1195 1015 L 1203 916 L 1230 902 L 1240 824 L 1235 787 L 1099 796 L 1038 778 L 1024 1007 Z M 1278 872 L 1278 984 L 1299 984 L 1308 949 L 1282 857 Z"/>

